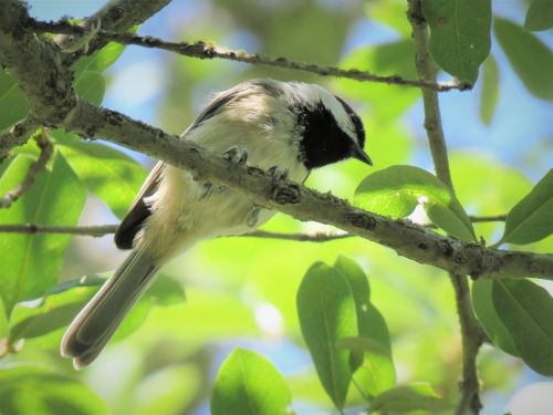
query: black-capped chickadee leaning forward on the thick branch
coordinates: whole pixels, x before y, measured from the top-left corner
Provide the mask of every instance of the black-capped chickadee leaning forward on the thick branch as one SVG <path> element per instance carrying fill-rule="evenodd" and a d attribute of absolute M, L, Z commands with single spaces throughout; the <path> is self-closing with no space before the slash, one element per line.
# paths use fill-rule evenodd
<path fill-rule="evenodd" d="M 372 164 L 359 116 L 325 89 L 301 82 L 253 80 L 221 92 L 181 138 L 273 175 L 288 172 L 298 183 L 348 157 Z M 201 239 L 250 232 L 273 215 L 234 189 L 159 162 L 115 234 L 131 255 L 73 320 L 62 355 L 75 369 L 87 365 L 171 257 Z"/>

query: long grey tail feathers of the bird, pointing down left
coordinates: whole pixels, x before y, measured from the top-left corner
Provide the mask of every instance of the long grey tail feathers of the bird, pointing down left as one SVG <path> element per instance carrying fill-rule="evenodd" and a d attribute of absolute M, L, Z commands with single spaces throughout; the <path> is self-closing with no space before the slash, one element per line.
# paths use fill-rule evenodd
<path fill-rule="evenodd" d="M 61 343 L 62 355 L 73 357 L 75 369 L 96 359 L 156 271 L 150 256 L 134 250 L 77 314 Z"/>

